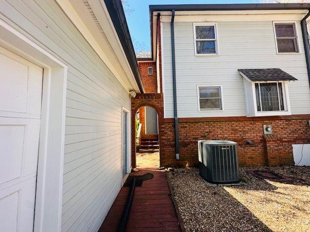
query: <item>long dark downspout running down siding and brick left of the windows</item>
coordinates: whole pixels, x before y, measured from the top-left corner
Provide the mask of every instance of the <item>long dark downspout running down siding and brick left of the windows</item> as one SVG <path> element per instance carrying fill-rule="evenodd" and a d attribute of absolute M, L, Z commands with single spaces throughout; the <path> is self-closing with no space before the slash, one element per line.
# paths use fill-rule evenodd
<path fill-rule="evenodd" d="M 179 122 L 178 111 L 176 103 L 176 77 L 175 77 L 175 49 L 174 49 L 174 13 L 175 10 L 171 10 L 171 55 L 172 55 L 172 81 L 173 81 L 173 112 L 174 112 L 174 137 L 175 137 L 175 159 L 180 160 L 180 148 L 179 148 Z"/>

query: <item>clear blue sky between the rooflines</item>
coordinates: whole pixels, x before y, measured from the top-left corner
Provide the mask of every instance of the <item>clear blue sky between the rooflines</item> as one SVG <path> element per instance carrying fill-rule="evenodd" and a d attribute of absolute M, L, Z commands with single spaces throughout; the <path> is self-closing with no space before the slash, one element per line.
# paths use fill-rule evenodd
<path fill-rule="evenodd" d="M 136 53 L 150 51 L 150 19 L 149 5 L 161 4 L 216 4 L 216 3 L 254 3 L 257 0 L 126 0 L 124 8 L 130 9 L 126 13 L 126 20 Z"/>

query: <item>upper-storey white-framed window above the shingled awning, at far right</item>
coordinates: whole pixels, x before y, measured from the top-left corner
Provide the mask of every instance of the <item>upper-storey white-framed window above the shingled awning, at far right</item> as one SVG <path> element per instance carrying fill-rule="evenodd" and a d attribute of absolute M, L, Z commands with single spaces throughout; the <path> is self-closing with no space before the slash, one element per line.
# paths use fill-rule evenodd
<path fill-rule="evenodd" d="M 278 53 L 299 53 L 295 23 L 274 23 Z"/>

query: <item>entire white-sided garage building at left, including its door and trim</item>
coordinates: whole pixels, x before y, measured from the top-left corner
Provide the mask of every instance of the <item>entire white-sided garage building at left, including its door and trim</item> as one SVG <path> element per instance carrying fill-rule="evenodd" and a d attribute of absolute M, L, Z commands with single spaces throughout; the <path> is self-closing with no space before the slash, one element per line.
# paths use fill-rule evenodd
<path fill-rule="evenodd" d="M 129 91 L 143 91 L 115 23 L 100 0 L 0 1 L 3 231 L 96 232 L 106 217 L 131 168 Z"/>

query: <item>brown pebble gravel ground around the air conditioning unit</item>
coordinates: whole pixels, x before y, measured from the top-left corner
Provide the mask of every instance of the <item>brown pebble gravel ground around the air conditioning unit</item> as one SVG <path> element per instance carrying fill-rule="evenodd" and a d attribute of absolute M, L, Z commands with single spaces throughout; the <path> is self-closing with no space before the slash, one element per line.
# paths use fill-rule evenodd
<path fill-rule="evenodd" d="M 310 231 L 310 167 L 269 168 L 294 179 L 287 183 L 265 181 L 245 170 L 240 176 L 247 185 L 233 187 L 208 187 L 196 168 L 169 172 L 186 231 Z"/>

